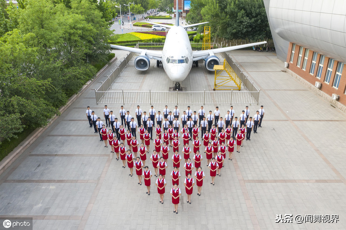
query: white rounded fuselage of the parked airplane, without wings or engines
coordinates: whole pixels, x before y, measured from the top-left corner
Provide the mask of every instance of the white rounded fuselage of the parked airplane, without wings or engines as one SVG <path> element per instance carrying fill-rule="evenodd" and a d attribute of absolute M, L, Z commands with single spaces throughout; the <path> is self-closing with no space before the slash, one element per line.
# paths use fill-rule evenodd
<path fill-rule="evenodd" d="M 183 81 L 190 73 L 192 59 L 188 33 L 182 26 L 173 26 L 162 50 L 162 66 L 167 76 L 174 82 Z"/>

